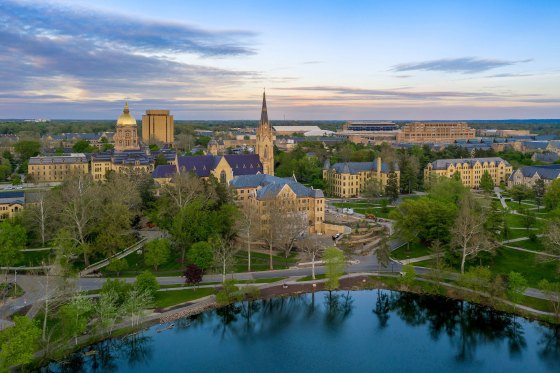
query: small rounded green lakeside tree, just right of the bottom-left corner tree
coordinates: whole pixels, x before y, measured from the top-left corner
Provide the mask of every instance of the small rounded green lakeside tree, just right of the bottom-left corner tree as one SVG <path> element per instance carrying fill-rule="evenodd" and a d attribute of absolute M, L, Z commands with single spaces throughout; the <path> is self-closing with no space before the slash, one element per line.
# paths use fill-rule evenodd
<path fill-rule="evenodd" d="M 60 308 L 59 315 L 65 338 L 74 338 L 74 343 L 78 344 L 78 336 L 86 331 L 91 310 L 91 299 L 82 294 L 74 295 L 69 303 Z"/>

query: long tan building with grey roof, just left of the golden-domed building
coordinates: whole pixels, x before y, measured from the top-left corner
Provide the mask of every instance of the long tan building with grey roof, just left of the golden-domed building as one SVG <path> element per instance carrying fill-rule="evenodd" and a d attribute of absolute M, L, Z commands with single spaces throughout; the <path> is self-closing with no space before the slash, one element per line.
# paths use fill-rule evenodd
<path fill-rule="evenodd" d="M 34 183 L 64 181 L 72 174 L 88 172 L 88 160 L 83 153 L 31 157 L 27 165 L 27 176 Z"/>

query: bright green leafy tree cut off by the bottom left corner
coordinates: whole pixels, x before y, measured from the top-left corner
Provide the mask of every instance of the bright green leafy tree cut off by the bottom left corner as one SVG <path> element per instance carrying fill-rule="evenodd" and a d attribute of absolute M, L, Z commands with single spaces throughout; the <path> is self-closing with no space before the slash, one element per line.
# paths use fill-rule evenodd
<path fill-rule="evenodd" d="M 0 371 L 33 361 L 41 329 L 27 316 L 14 316 L 14 326 L 0 331 Z"/>

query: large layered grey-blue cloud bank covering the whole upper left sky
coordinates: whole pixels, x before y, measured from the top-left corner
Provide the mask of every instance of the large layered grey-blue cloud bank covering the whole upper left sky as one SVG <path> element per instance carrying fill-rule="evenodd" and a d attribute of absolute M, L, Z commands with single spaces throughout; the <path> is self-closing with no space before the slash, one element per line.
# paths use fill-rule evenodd
<path fill-rule="evenodd" d="M 0 95 L 17 92 L 35 102 L 200 97 L 260 73 L 185 63 L 178 54 L 236 58 L 253 53 L 244 46 L 253 36 L 6 1 L 0 7 Z"/>

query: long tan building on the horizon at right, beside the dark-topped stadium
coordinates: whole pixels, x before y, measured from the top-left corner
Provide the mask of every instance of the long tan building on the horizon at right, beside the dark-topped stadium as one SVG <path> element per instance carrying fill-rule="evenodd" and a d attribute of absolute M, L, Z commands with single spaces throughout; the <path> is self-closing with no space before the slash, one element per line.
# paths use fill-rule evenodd
<path fill-rule="evenodd" d="M 466 122 L 414 122 L 405 125 L 397 135 L 404 143 L 453 143 L 473 139 L 476 130 Z"/>

